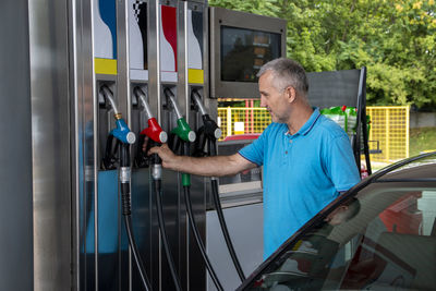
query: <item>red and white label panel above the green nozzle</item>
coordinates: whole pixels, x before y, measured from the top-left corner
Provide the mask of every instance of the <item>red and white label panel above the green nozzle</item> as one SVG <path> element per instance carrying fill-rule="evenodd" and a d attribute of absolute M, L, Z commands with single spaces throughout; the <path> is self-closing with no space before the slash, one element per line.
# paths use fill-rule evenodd
<path fill-rule="evenodd" d="M 160 5 L 160 71 L 162 82 L 177 82 L 177 10 Z"/>

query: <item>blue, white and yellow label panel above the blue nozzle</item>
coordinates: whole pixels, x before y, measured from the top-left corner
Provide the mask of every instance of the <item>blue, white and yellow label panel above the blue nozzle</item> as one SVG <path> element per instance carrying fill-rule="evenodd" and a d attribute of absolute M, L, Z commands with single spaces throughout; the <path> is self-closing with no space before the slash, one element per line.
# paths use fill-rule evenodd
<path fill-rule="evenodd" d="M 93 0 L 93 5 L 96 74 L 117 74 L 116 1 Z"/>

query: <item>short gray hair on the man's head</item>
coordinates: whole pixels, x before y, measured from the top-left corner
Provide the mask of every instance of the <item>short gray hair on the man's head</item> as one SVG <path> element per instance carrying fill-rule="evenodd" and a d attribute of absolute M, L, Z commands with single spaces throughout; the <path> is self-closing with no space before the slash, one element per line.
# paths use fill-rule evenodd
<path fill-rule="evenodd" d="M 283 90 L 289 86 L 295 88 L 296 93 L 306 97 L 308 90 L 308 82 L 306 72 L 303 66 L 290 59 L 279 58 L 264 64 L 257 73 L 261 77 L 267 71 L 271 71 L 275 76 L 274 86 Z"/>

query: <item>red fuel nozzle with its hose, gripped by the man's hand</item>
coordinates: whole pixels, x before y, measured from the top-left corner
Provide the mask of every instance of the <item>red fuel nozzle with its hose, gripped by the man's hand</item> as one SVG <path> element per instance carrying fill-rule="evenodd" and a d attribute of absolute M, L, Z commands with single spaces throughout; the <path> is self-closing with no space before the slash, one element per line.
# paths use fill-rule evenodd
<path fill-rule="evenodd" d="M 180 278 L 175 271 L 175 264 L 173 262 L 171 248 L 169 247 L 167 228 L 165 227 L 165 220 L 164 220 L 164 210 L 161 201 L 161 179 L 162 179 L 161 160 L 157 154 L 153 154 L 150 157 L 147 156 L 148 149 L 153 146 L 160 146 L 162 143 L 166 143 L 168 140 L 168 135 L 165 131 L 162 131 L 157 120 L 153 117 L 144 90 L 142 90 L 140 87 L 135 87 L 133 89 L 133 93 L 136 95 L 142 106 L 144 107 L 148 124 L 148 128 L 144 129 L 140 133 L 140 145 L 138 145 L 138 155 L 136 157 L 136 163 L 138 165 L 138 167 L 152 166 L 152 178 L 153 178 L 152 189 L 156 196 L 156 208 L 157 208 L 157 218 L 160 229 L 160 237 L 162 240 L 164 250 L 167 256 L 167 262 L 170 268 L 171 277 L 175 284 L 175 289 L 182 290 Z M 146 150 L 142 150 L 142 145 L 144 144 L 144 140 L 146 136 L 148 137 L 147 148 Z"/>

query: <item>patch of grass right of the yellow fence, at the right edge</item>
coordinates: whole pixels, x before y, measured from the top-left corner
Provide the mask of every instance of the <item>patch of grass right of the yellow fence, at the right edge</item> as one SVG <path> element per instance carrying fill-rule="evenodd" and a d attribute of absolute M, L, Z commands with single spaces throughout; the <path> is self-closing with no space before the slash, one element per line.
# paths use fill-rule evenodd
<path fill-rule="evenodd" d="M 425 150 L 436 150 L 436 128 L 410 129 L 409 156 L 420 155 Z"/>

